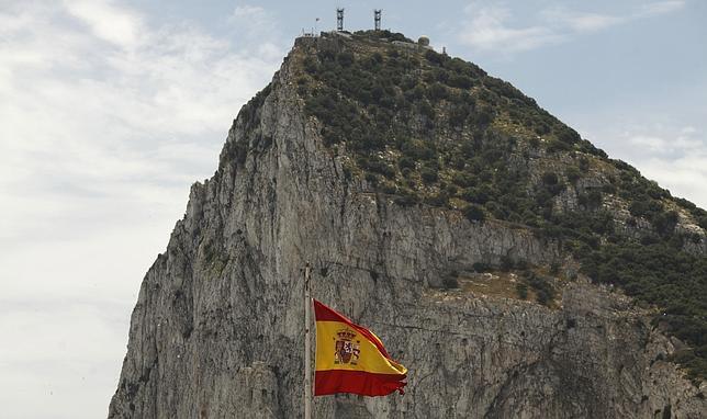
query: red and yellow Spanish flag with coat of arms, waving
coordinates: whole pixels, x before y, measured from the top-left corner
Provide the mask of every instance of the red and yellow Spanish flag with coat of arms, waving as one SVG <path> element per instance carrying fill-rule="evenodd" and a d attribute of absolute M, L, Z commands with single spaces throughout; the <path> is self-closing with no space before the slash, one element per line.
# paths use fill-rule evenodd
<path fill-rule="evenodd" d="M 362 396 L 403 394 L 407 369 L 393 361 L 381 340 L 314 299 L 316 371 L 314 395 L 352 393 Z"/>

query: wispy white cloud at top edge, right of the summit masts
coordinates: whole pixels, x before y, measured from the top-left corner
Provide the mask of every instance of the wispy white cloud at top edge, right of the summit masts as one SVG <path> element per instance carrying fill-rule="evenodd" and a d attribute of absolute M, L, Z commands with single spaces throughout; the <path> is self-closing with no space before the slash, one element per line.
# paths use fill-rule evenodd
<path fill-rule="evenodd" d="M 516 16 L 504 2 L 474 1 L 464 9 L 469 19 L 458 31 L 458 39 L 476 50 L 508 55 L 566 42 L 577 34 L 671 13 L 682 9 L 684 3 L 680 0 L 652 2 L 625 15 L 574 11 L 558 5 L 539 7 L 536 13 L 524 16 L 524 21 L 535 23 L 514 25 Z"/>

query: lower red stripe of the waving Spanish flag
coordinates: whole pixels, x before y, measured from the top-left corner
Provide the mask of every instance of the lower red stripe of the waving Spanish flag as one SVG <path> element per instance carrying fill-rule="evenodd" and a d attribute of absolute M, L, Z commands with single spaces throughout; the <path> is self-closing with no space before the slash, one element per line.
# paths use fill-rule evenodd
<path fill-rule="evenodd" d="M 403 374 L 375 374 L 364 371 L 327 370 L 314 372 L 314 395 L 351 393 L 361 396 L 386 396 L 395 390 L 404 394 Z"/>

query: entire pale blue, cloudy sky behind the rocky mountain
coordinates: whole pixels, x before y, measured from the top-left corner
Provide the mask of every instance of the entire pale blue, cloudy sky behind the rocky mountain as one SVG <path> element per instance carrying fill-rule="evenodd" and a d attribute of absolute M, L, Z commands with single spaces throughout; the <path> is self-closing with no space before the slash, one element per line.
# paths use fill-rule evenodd
<path fill-rule="evenodd" d="M 707 2 L 0 0 L 0 406 L 105 417 L 143 276 L 303 30 L 427 35 L 707 207 Z M 315 22 L 315 18 L 321 20 Z"/>

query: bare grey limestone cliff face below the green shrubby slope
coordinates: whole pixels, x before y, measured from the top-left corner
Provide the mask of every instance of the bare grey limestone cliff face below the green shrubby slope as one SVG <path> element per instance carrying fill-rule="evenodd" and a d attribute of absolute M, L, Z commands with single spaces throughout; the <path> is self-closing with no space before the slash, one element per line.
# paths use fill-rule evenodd
<path fill-rule="evenodd" d="M 109 418 L 301 417 L 306 261 L 313 295 L 409 369 L 405 395 L 319 397 L 316 418 L 705 417 L 704 385 L 664 361 L 675 343 L 613 290 L 580 279 L 554 309 L 447 290 L 475 262 L 549 263 L 557 244 L 349 179 L 292 71 L 240 112 L 146 274 Z"/>

